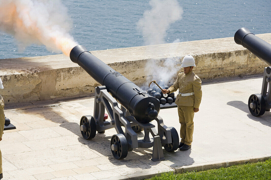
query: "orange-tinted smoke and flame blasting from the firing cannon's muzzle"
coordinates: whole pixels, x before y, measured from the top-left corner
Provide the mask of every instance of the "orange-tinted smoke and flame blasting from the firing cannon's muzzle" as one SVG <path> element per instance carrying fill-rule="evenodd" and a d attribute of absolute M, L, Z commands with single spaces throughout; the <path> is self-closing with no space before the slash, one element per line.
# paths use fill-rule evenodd
<path fill-rule="evenodd" d="M 13 35 L 20 48 L 43 44 L 69 56 L 78 43 L 68 33 L 67 12 L 60 0 L 0 0 L 0 29 Z"/>

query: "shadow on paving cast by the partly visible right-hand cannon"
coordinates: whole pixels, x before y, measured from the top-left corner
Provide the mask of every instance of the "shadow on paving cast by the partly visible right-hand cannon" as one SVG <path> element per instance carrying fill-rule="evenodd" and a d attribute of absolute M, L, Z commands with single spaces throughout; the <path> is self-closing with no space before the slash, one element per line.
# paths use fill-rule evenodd
<path fill-rule="evenodd" d="M 233 106 L 237 109 L 240 109 L 241 111 L 246 112 L 247 117 L 254 120 L 254 121 L 260 122 L 266 126 L 270 126 L 270 122 L 269 122 L 270 118 L 271 118 L 270 111 L 265 111 L 262 116 L 253 116 L 249 112 L 248 105 L 246 103 L 244 103 L 243 101 L 230 101 L 230 102 L 227 102 L 227 105 Z M 267 121 L 267 119 L 269 119 L 269 121 Z"/>

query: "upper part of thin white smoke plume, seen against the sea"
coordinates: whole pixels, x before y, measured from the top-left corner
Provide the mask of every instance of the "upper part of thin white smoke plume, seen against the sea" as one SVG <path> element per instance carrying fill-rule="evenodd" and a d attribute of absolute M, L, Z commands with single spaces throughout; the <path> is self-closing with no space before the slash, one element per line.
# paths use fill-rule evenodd
<path fill-rule="evenodd" d="M 150 0 L 151 10 L 144 12 L 137 27 L 145 45 L 164 44 L 170 24 L 182 19 L 183 9 L 177 0 Z"/>

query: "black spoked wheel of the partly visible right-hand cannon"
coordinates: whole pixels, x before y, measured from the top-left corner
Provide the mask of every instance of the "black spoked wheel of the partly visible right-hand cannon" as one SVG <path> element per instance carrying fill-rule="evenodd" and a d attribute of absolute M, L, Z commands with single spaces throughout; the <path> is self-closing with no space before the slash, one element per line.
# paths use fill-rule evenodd
<path fill-rule="evenodd" d="M 250 104 L 254 106 L 251 108 Z M 261 116 L 266 109 L 265 99 L 261 94 L 252 94 L 248 101 L 249 111 L 253 116 Z"/>

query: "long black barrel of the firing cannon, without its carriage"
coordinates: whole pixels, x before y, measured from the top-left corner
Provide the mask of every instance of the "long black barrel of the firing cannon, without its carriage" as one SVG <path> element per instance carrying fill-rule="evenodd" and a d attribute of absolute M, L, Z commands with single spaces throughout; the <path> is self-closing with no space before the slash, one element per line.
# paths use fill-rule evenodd
<path fill-rule="evenodd" d="M 138 122 L 146 124 L 157 118 L 160 111 L 159 101 L 96 58 L 87 51 L 85 46 L 75 46 L 70 52 L 70 59 L 81 66 L 99 84 L 105 86 L 107 91 Z"/>

